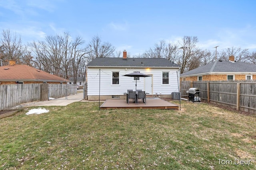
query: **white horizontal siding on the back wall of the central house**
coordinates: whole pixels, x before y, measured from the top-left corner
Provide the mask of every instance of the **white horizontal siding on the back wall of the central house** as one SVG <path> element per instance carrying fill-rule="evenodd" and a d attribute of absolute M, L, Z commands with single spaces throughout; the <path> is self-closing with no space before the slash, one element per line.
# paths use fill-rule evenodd
<path fill-rule="evenodd" d="M 119 72 L 119 84 L 112 85 L 112 72 Z M 151 74 L 153 80 L 153 94 L 170 95 L 172 92 L 178 92 L 177 71 L 178 68 L 142 68 L 141 70 L 133 68 L 88 68 L 88 96 L 100 95 L 123 95 L 127 89 L 135 90 L 135 80 L 133 77 L 123 76 L 134 71 L 140 71 L 144 74 Z M 169 84 L 162 84 L 162 72 L 169 72 Z M 179 72 L 178 72 L 179 76 Z M 137 81 L 137 89 L 144 90 L 144 78 Z"/>

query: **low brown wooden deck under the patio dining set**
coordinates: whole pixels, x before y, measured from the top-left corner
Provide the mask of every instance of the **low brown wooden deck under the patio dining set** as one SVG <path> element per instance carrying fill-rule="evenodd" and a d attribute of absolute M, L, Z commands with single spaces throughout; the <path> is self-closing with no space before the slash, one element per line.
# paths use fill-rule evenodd
<path fill-rule="evenodd" d="M 126 103 L 126 100 L 122 99 L 108 99 L 101 106 L 100 109 L 178 109 L 179 106 L 172 104 L 162 99 L 151 99 L 147 98 L 146 104 L 139 100 L 138 104 L 129 100 L 129 104 Z"/>

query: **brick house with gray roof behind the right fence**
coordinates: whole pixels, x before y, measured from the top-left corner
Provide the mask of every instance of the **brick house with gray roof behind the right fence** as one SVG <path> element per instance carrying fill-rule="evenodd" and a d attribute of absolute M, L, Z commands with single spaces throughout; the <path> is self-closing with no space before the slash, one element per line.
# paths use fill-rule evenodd
<path fill-rule="evenodd" d="M 256 80 L 256 64 L 229 61 L 214 61 L 180 74 L 181 81 Z"/>

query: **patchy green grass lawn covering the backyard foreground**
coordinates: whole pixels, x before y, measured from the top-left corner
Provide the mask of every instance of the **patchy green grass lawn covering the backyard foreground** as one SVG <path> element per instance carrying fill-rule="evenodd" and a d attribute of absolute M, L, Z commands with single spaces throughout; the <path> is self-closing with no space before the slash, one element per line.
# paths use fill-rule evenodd
<path fill-rule="evenodd" d="M 181 111 L 75 102 L 25 114 L 33 108 L 0 119 L 0 169 L 256 169 L 256 115 L 186 101 Z"/>

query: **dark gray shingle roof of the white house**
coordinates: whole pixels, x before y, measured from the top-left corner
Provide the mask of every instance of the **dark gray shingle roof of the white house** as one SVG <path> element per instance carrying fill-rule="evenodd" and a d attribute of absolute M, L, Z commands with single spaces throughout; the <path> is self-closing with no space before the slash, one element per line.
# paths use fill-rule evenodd
<path fill-rule="evenodd" d="M 163 58 L 95 58 L 88 65 L 90 66 L 143 66 L 143 67 L 179 67 Z"/>

